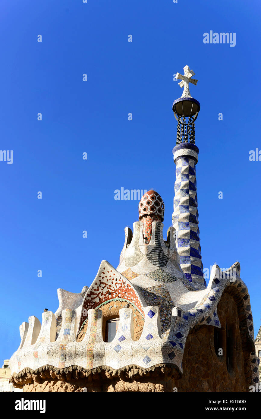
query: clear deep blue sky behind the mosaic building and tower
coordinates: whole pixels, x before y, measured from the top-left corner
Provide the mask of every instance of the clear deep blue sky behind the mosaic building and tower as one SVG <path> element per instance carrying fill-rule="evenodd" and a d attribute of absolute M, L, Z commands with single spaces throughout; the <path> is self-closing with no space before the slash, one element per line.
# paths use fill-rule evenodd
<path fill-rule="evenodd" d="M 260 8 L 240 0 L 2 0 L 0 148 L 13 150 L 13 164 L 0 162 L 0 362 L 17 349 L 28 316 L 41 321 L 44 308 L 57 310 L 57 288 L 80 292 L 101 260 L 118 265 L 138 202 L 116 201 L 115 189 L 157 190 L 166 235 L 175 182 L 172 103 L 182 93 L 173 74 L 185 65 L 199 80 L 191 95 L 201 103 L 203 265 L 240 261 L 256 336 L 261 161 L 249 161 L 249 151 L 261 150 Z M 204 44 L 211 30 L 236 33 L 235 47 Z"/>

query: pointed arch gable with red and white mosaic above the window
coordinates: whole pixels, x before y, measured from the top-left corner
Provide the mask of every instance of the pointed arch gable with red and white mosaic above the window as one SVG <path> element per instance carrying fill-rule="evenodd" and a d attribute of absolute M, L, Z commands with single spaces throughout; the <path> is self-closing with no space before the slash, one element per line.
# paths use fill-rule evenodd
<path fill-rule="evenodd" d="M 144 315 L 140 299 L 130 284 L 127 284 L 125 279 L 120 275 L 116 275 L 112 270 L 108 271 L 103 267 L 101 275 L 96 279 L 95 284 L 89 288 L 88 293 L 83 303 L 83 310 L 86 312 L 89 309 L 98 307 L 101 303 L 105 303 L 113 298 L 124 298 L 130 303 L 133 303 Z M 87 316 L 82 316 L 80 319 L 81 328 Z"/>

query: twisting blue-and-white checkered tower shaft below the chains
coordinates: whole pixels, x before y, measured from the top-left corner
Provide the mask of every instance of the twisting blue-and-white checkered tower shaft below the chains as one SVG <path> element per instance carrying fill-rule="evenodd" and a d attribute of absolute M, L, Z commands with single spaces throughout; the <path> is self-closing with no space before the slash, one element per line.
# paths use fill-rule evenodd
<path fill-rule="evenodd" d="M 199 244 L 199 213 L 196 195 L 196 163 L 199 149 L 191 143 L 173 148 L 176 163 L 176 182 L 172 224 L 176 230 L 176 248 L 181 269 L 190 282 L 204 290 L 207 286 L 203 274 Z"/>

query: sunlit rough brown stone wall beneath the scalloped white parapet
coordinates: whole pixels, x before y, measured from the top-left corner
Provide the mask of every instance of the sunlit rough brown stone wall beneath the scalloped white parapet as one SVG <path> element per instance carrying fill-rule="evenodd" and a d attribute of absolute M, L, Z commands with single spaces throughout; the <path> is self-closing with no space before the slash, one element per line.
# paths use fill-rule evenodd
<path fill-rule="evenodd" d="M 29 369 L 21 379 L 26 384 L 23 391 L 43 392 L 114 392 L 114 391 L 173 391 L 173 380 L 179 376 L 174 365 L 161 364 L 148 369 L 130 365 L 119 370 L 98 367 L 92 371 L 68 367 L 62 374 L 59 369 L 46 366 L 35 372 Z M 19 379 L 16 380 L 19 382 Z"/>

